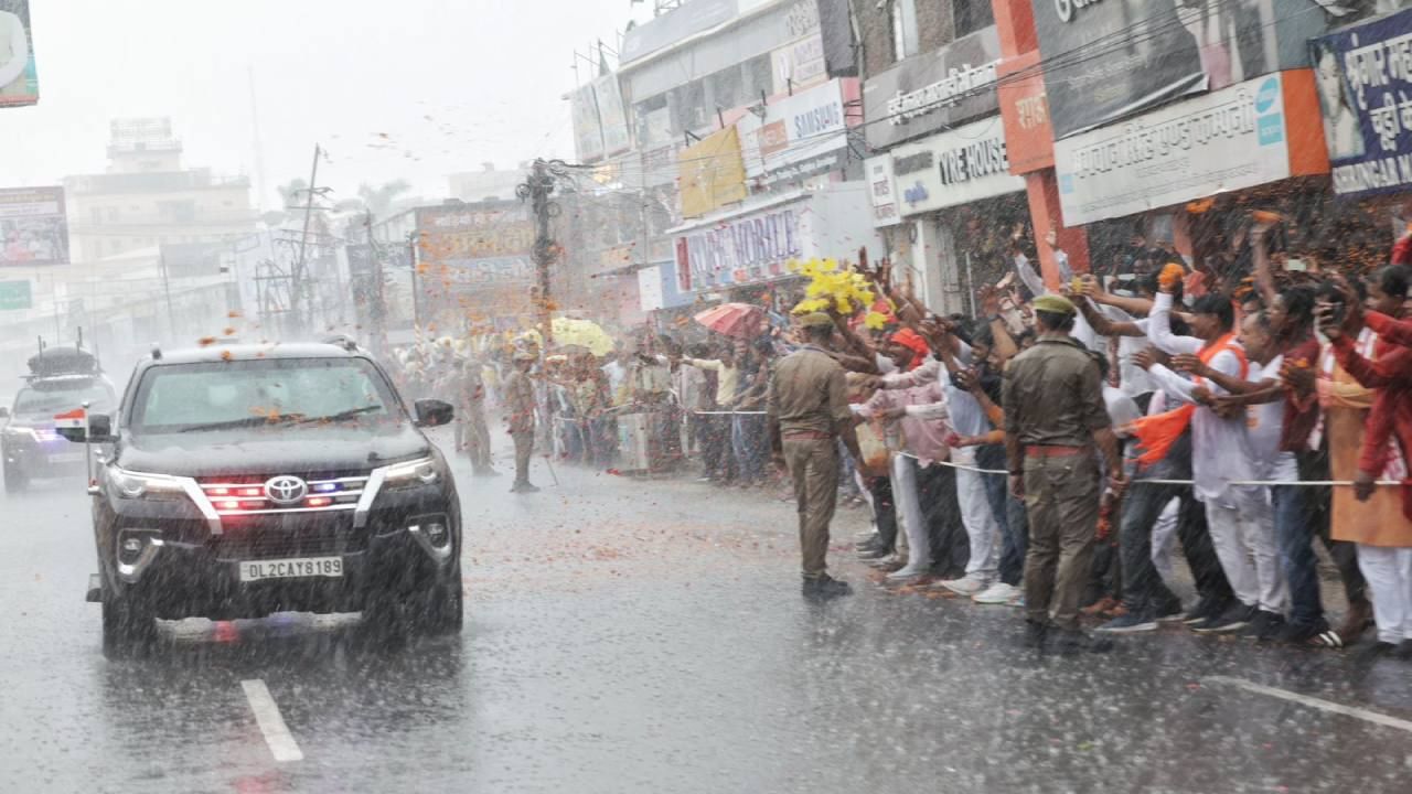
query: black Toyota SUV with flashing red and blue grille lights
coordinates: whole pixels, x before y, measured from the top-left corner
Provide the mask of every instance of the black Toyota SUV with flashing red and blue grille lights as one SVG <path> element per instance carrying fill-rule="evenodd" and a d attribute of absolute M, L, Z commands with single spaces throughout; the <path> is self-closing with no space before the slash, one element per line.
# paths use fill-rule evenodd
<path fill-rule="evenodd" d="M 462 623 L 460 503 L 383 369 L 352 343 L 205 348 L 138 362 L 114 415 L 93 530 L 103 648 L 147 647 L 154 619 L 363 612 L 421 633 Z"/>

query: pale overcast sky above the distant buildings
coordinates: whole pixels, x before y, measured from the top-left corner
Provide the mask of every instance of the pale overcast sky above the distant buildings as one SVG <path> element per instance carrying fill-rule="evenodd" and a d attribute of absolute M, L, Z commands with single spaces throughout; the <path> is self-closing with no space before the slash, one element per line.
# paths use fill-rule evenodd
<path fill-rule="evenodd" d="M 0 186 L 102 172 L 109 120 L 171 116 L 188 165 L 254 175 L 250 69 L 271 185 L 335 198 L 493 161 L 573 155 L 573 49 L 634 16 L 628 0 L 31 0 L 37 107 L 0 110 Z M 580 62 L 580 75 L 590 76 Z M 381 134 L 387 134 L 383 138 Z"/>

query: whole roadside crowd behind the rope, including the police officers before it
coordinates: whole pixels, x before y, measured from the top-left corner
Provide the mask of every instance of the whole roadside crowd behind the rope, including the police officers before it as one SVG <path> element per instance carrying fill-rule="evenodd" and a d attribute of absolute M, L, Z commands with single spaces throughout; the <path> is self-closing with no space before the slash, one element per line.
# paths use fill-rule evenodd
<path fill-rule="evenodd" d="M 874 305 L 762 309 L 729 336 L 640 331 L 602 355 L 511 345 L 445 386 L 498 400 L 524 461 L 537 437 L 611 469 L 633 418 L 648 470 L 782 486 L 809 598 L 851 592 L 825 557 L 834 504 L 856 499 L 857 557 L 884 582 L 1019 608 L 1036 643 L 1103 650 L 1180 623 L 1412 660 L 1412 268 L 1285 267 L 1274 225 L 1251 223 L 1245 267 L 1152 247 L 1075 275 L 1052 250 L 1058 284 L 1017 247 L 976 316 L 938 316 L 864 264 Z M 463 407 L 474 458 L 486 411 Z M 534 489 L 525 466 L 514 489 Z"/>

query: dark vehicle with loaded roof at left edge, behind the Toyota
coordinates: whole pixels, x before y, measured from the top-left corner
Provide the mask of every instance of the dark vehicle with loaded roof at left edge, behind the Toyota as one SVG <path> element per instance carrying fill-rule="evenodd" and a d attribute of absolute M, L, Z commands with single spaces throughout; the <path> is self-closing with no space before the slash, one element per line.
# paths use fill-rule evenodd
<path fill-rule="evenodd" d="M 14 405 L 0 407 L 0 458 L 7 493 L 28 489 L 34 479 L 85 473 L 86 451 L 64 441 L 55 417 L 80 411 L 85 404 L 100 413 L 117 404 L 113 384 L 83 350 L 42 352 L 30 359 L 30 370 Z"/>

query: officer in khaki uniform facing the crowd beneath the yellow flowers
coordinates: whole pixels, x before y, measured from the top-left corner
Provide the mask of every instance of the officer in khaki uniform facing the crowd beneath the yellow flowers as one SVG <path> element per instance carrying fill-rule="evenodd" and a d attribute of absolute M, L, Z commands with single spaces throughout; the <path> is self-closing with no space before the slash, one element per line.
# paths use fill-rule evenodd
<path fill-rule="evenodd" d="M 830 599 L 851 593 L 847 582 L 827 574 L 829 523 L 839 494 L 839 441 L 861 461 L 853 431 L 843 367 L 827 348 L 833 319 L 826 314 L 799 318 L 806 345 L 775 365 L 767 398 L 767 428 L 775 465 L 788 469 L 799 509 L 803 552 L 803 595 Z"/>

